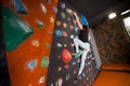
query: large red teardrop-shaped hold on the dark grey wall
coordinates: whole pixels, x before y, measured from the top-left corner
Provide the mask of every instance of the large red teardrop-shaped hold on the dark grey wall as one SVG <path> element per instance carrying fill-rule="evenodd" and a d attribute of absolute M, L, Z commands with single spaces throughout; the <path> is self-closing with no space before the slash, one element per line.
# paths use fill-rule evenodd
<path fill-rule="evenodd" d="M 65 63 L 68 63 L 72 60 L 72 54 L 65 48 L 63 49 L 62 58 Z"/>

